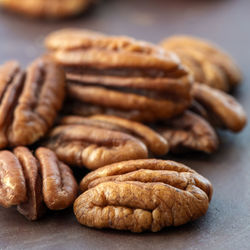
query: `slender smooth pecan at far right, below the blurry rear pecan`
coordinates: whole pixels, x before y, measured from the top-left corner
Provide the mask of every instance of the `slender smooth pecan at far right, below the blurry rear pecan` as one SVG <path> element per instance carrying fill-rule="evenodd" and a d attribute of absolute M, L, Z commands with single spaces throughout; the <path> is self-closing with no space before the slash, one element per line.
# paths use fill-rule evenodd
<path fill-rule="evenodd" d="M 246 113 L 237 100 L 221 90 L 195 83 L 192 95 L 207 111 L 207 118 L 214 126 L 241 131 L 247 122 Z"/>

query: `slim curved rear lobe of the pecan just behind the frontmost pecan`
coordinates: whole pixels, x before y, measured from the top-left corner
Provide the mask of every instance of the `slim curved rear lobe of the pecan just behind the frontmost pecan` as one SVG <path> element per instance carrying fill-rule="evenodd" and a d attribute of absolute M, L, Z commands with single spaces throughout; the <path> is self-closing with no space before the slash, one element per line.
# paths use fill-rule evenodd
<path fill-rule="evenodd" d="M 164 155 L 168 152 L 168 142 L 160 134 L 146 125 L 116 116 L 94 115 L 88 118 L 80 116 L 66 116 L 61 120 L 61 123 L 83 124 L 114 131 L 121 131 L 139 138 L 155 155 Z"/>

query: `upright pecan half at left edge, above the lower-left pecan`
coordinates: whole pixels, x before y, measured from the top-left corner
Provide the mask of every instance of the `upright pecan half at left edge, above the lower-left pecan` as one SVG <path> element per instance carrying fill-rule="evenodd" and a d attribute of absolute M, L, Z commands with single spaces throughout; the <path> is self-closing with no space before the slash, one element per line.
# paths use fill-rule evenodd
<path fill-rule="evenodd" d="M 28 145 L 52 126 L 65 93 L 63 70 L 39 58 L 22 72 L 16 62 L 0 67 L 0 148 Z"/>

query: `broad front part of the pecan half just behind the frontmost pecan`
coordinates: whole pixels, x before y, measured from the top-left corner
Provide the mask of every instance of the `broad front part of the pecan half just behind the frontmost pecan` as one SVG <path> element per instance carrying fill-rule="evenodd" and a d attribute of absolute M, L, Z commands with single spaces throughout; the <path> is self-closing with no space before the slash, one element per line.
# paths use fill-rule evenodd
<path fill-rule="evenodd" d="M 51 131 L 45 145 L 63 162 L 91 170 L 113 162 L 147 158 L 147 147 L 141 140 L 96 125 L 91 120 L 86 125 L 60 125 Z"/>

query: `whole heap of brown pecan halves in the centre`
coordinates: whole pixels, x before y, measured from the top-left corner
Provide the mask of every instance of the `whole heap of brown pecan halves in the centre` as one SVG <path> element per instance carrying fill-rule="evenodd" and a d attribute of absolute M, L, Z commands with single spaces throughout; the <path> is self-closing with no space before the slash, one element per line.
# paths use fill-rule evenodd
<path fill-rule="evenodd" d="M 45 44 L 27 70 L 0 67 L 0 205 L 36 220 L 74 204 L 83 225 L 132 232 L 204 215 L 211 183 L 154 158 L 212 153 L 218 129 L 244 128 L 226 93 L 241 81 L 233 60 L 190 37 L 157 46 L 67 29 Z M 92 171 L 80 188 L 75 167 Z"/>

